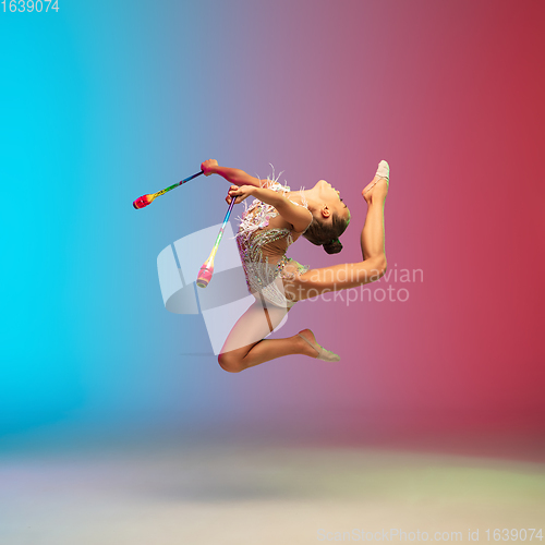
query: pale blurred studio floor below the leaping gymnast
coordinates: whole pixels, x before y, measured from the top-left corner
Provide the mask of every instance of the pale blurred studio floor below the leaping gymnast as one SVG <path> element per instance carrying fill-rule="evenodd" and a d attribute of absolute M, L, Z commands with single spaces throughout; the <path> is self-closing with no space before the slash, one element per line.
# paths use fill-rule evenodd
<path fill-rule="evenodd" d="M 0 461 L 0 543 L 278 545 L 383 530 L 393 543 L 391 530 L 464 542 L 479 530 L 486 542 L 486 529 L 545 525 L 544 469 L 376 447 L 12 452 Z"/>

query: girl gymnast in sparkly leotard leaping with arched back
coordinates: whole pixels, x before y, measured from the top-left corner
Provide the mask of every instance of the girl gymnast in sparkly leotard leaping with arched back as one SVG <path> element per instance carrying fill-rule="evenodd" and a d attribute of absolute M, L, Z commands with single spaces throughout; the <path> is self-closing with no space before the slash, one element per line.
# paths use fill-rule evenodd
<path fill-rule="evenodd" d="M 223 344 L 218 362 L 228 372 L 288 354 L 304 354 L 324 361 L 340 358 L 316 343 L 303 329 L 293 337 L 265 339 L 298 301 L 378 280 L 386 271 L 384 205 L 389 185 L 389 166 L 380 161 L 375 178 L 362 191 L 367 216 L 361 233 L 363 261 L 310 269 L 286 256 L 301 235 L 329 254 L 342 250 L 339 237 L 350 222 L 350 211 L 340 192 L 325 180 L 314 187 L 291 192 L 275 180 L 259 180 L 243 170 L 220 167 L 214 159 L 201 166 L 205 175 L 219 174 L 231 182 L 226 201 L 235 204 L 255 199 L 242 215 L 237 234 L 250 292 L 256 301 L 241 316 Z"/>

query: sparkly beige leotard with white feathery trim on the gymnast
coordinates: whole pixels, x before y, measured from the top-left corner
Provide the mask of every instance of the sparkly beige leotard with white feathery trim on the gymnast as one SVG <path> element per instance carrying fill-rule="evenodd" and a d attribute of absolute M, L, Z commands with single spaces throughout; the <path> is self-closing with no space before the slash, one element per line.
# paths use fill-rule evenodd
<path fill-rule="evenodd" d="M 282 185 L 277 180 L 267 178 L 264 187 L 286 196 L 291 191 L 290 187 Z M 303 206 L 308 210 L 302 190 L 301 197 L 302 205 L 298 206 Z M 250 207 L 246 205 L 246 209 L 240 218 L 241 223 L 235 239 L 250 292 L 262 294 L 267 302 L 276 306 L 291 307 L 295 301 L 287 298 L 282 279 L 292 280 L 295 275 L 306 272 L 308 267 L 286 256 L 286 251 L 293 243 L 292 232 L 294 231 L 288 228 L 267 229 L 269 219 L 276 216 L 278 216 L 278 211 L 274 206 L 255 198 Z M 306 229 L 311 223 L 312 216 Z M 304 233 L 306 229 L 302 232 Z M 269 255 L 264 255 L 264 250 Z M 269 263 L 269 257 L 272 263 Z M 295 272 L 286 270 L 288 264 L 291 265 L 289 269 L 295 269 Z"/>

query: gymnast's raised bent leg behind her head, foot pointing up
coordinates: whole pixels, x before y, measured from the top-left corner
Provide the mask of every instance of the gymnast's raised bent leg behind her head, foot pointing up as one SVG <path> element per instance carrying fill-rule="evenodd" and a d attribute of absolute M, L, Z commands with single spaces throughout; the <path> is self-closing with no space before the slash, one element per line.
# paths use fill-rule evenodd
<path fill-rule="evenodd" d="M 375 177 L 362 191 L 367 203 L 367 217 L 361 234 L 363 261 L 320 269 L 310 269 L 293 281 L 284 281 L 284 290 L 294 301 L 315 298 L 329 291 L 348 290 L 378 280 L 386 272 L 384 206 L 388 180 Z"/>

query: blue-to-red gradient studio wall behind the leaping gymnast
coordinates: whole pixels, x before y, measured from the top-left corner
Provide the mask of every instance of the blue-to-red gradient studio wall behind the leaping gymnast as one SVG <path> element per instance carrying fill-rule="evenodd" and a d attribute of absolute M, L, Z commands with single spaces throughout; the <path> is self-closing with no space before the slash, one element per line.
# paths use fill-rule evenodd
<path fill-rule="evenodd" d="M 544 8 L 521 7 L 1 13 L 2 432 L 542 425 Z M 298 305 L 282 334 L 311 327 L 340 366 L 293 356 L 229 375 L 182 355 L 209 351 L 208 336 L 165 310 L 156 257 L 220 221 L 227 184 L 199 178 L 145 210 L 131 203 L 207 158 L 340 189 L 342 254 L 290 253 L 316 267 L 360 259 L 360 192 L 387 159 L 388 264 L 424 282 L 405 303 Z"/>

